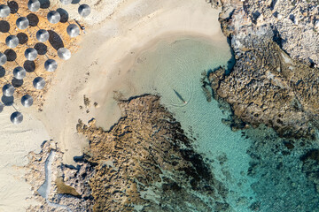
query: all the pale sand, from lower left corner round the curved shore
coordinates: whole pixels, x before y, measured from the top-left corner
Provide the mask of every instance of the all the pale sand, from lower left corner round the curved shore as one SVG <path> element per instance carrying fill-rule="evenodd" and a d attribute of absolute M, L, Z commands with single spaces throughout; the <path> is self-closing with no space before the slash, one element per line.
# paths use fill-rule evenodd
<path fill-rule="evenodd" d="M 26 198 L 31 192 L 14 166 L 25 164 L 27 152 L 38 150 L 43 140 L 58 141 L 59 148 L 65 152 L 65 163 L 72 164 L 74 155 L 82 155 L 87 140 L 76 133 L 78 119 L 87 122 L 99 116 L 106 104 L 105 96 L 113 93 L 113 84 L 121 83 L 121 74 L 128 71 L 144 49 L 152 48 L 159 40 L 186 35 L 226 42 L 217 21 L 219 11 L 205 0 L 84 0 L 81 3 L 92 7 L 88 19 L 76 14 L 78 4 L 61 6 L 69 11 L 70 19 L 86 21 L 87 34 L 82 34 L 79 51 L 66 63 L 59 64 L 43 112 L 25 111 L 25 120 L 19 126 L 9 123 L 9 111 L 1 114 L 6 118 L 1 118 L 4 127 L 0 129 L 3 150 L 0 211 L 24 211 L 23 207 L 29 204 Z M 84 105 L 83 95 L 89 97 L 89 107 Z M 97 108 L 94 102 L 98 103 Z M 114 113 L 113 120 L 107 120 L 111 124 L 120 116 L 116 110 Z"/>

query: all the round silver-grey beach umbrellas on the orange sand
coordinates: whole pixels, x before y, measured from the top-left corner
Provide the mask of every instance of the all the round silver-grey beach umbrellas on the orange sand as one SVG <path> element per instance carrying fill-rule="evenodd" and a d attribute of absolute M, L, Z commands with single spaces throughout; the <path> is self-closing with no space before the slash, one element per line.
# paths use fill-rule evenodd
<path fill-rule="evenodd" d="M 73 0 L 60 0 L 62 4 L 72 4 Z M 29 0 L 27 3 L 27 8 L 29 11 L 38 11 L 41 7 L 41 3 L 39 0 Z M 11 9 L 8 5 L 1 4 L 0 5 L 0 18 L 6 18 L 10 15 Z M 78 13 L 82 17 L 87 17 L 89 16 L 90 13 L 90 7 L 88 4 L 81 4 L 78 8 Z M 60 19 L 61 15 L 58 13 L 58 11 L 49 11 L 47 14 L 47 19 L 51 24 L 57 24 Z M 29 20 L 26 17 L 19 17 L 16 20 L 16 26 L 23 30 L 27 29 L 29 26 Z M 77 35 L 80 34 L 80 28 L 75 25 L 75 24 L 70 24 L 66 28 L 66 33 L 69 34 L 70 37 L 76 37 Z M 35 34 L 36 39 L 39 42 L 46 42 L 50 38 L 50 34 L 47 30 L 45 29 L 39 29 L 36 34 Z M 6 39 L 5 39 L 5 44 L 13 49 L 16 48 L 19 45 L 19 39 L 16 35 L 10 34 Z M 35 58 L 38 56 L 38 52 L 34 48 L 27 48 L 24 53 L 25 57 L 27 58 L 28 61 L 34 61 Z M 58 57 L 67 60 L 71 57 L 71 52 L 69 49 L 66 48 L 60 48 L 58 49 Z M 7 62 L 7 57 L 5 54 L 0 52 L 0 65 L 3 65 Z M 48 72 L 54 72 L 58 68 L 58 63 L 54 59 L 48 59 L 44 63 L 44 68 Z M 24 79 L 27 75 L 26 69 L 24 69 L 21 66 L 18 66 L 14 68 L 13 70 L 13 77 L 14 79 Z M 36 77 L 33 80 L 33 86 L 35 89 L 43 89 L 45 86 L 45 80 L 42 77 Z M 3 95 L 4 97 L 12 97 L 14 94 L 15 88 L 12 86 L 12 84 L 6 84 L 3 87 Z M 21 104 L 24 107 L 30 107 L 33 105 L 33 97 L 31 95 L 23 95 L 21 100 Z M 0 112 L 4 110 L 4 103 L 0 102 Z M 19 111 L 15 111 L 12 113 L 10 117 L 11 121 L 13 124 L 19 124 L 23 121 L 23 115 Z"/>

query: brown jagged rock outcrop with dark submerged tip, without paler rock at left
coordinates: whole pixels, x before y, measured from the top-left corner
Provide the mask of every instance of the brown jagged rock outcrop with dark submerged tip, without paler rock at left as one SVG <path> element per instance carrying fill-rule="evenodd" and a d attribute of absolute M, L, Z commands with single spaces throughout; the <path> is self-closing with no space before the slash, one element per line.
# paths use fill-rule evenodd
<path fill-rule="evenodd" d="M 110 131 L 95 119 L 77 125 L 89 140 L 94 165 L 89 185 L 95 211 L 228 211 L 228 191 L 214 178 L 159 96 L 121 100 L 122 117 Z"/>

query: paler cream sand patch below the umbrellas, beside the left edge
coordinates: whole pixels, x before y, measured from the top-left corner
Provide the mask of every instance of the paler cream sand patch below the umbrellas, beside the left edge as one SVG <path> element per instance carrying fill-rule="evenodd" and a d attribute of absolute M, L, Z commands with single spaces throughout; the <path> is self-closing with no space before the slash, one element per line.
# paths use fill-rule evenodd
<path fill-rule="evenodd" d="M 24 211 L 31 202 L 30 186 L 23 179 L 27 153 L 39 151 L 43 140 L 49 140 L 44 125 L 32 115 L 24 113 L 20 125 L 12 125 L 12 107 L 5 107 L 0 114 L 0 211 Z"/>

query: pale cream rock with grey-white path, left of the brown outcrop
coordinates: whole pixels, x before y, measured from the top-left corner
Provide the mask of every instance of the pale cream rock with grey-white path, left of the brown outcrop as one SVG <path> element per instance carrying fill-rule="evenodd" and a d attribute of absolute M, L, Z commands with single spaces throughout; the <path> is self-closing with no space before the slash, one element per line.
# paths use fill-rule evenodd
<path fill-rule="evenodd" d="M 77 167 L 67 166 L 62 163 L 62 156 L 53 140 L 45 141 L 39 154 L 28 154 L 25 178 L 33 199 L 40 204 L 29 206 L 27 211 L 92 211 L 88 182 L 94 170 L 85 162 L 78 162 Z"/>

